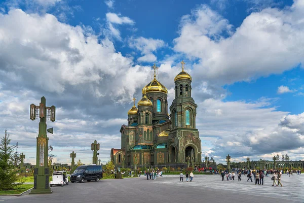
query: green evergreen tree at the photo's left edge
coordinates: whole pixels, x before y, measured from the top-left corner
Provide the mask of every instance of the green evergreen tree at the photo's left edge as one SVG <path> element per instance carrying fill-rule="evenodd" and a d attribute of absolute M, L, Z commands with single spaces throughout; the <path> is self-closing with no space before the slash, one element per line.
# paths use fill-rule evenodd
<path fill-rule="evenodd" d="M 18 170 L 14 165 L 14 149 L 16 146 L 11 146 L 10 143 L 10 134 L 5 130 L 5 136 L 0 141 L 0 190 L 10 190 L 14 186 L 22 184 L 15 184 L 19 178 Z"/>

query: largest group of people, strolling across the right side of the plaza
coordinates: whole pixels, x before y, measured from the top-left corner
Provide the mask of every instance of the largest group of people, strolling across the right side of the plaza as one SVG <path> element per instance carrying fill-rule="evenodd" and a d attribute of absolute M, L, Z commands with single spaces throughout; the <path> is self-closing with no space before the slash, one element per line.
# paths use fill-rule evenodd
<path fill-rule="evenodd" d="M 242 181 L 242 175 L 246 175 L 247 174 L 247 182 L 249 182 L 249 180 L 251 182 L 252 181 L 252 176 L 255 180 L 255 185 L 263 185 L 264 184 L 264 177 L 265 176 L 269 176 L 270 174 L 272 175 L 272 180 L 273 180 L 273 184 L 272 186 L 276 185 L 276 186 L 279 186 L 281 185 L 281 187 L 283 187 L 282 183 L 281 183 L 281 175 L 282 175 L 282 172 L 280 171 L 262 171 L 262 170 L 242 170 L 242 171 L 237 171 L 237 176 L 238 176 L 238 180 L 239 181 Z M 221 172 L 221 178 L 222 178 L 222 181 L 225 180 L 224 177 L 226 177 L 226 180 L 227 181 L 235 181 L 235 172 L 233 171 L 232 173 L 231 172 L 228 172 L 228 171 L 222 171 Z M 278 183 L 277 183 L 278 181 Z"/>

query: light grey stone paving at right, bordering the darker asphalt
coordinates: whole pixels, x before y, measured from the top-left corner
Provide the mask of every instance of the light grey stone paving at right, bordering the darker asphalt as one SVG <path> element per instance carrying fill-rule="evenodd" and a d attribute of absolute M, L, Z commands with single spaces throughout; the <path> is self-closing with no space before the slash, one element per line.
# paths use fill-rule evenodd
<path fill-rule="evenodd" d="M 167 178 L 166 178 L 167 177 Z M 170 177 L 170 178 L 169 178 Z M 172 179 L 175 177 L 175 179 Z M 185 177 L 185 175 L 184 175 Z M 304 174 L 288 176 L 283 174 L 281 183 L 283 187 L 272 186 L 273 180 L 270 177 L 264 177 L 263 185 L 255 185 L 255 180 L 252 177 L 251 182 L 247 182 L 247 176 L 242 175 L 242 181 L 222 181 L 220 175 L 195 175 L 193 182 L 180 182 L 179 175 L 164 175 L 164 178 L 157 179 L 158 184 L 175 184 L 180 187 L 199 187 L 199 188 L 214 188 L 216 192 L 230 191 L 232 193 L 242 193 L 257 196 L 273 197 L 286 200 L 296 200 L 304 202 Z"/>

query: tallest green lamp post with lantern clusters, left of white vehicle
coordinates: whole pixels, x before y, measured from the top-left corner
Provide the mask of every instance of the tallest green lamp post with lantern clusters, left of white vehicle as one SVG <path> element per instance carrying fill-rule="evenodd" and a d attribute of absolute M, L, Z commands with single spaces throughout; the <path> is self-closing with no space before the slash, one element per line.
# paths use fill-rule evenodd
<path fill-rule="evenodd" d="M 52 193 L 49 186 L 49 167 L 48 167 L 48 144 L 47 137 L 47 119 L 55 121 L 56 107 L 46 106 L 46 98 L 41 97 L 39 106 L 30 105 L 30 119 L 35 120 L 40 118 L 39 134 L 36 138 L 36 166 L 34 168 L 34 188 L 29 194 L 45 194 Z M 48 129 L 48 132 L 53 133 L 53 128 Z"/>

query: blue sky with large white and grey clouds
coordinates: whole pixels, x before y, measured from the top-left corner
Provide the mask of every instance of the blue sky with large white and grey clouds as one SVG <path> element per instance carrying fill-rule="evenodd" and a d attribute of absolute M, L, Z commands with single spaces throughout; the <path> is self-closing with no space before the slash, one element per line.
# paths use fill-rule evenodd
<path fill-rule="evenodd" d="M 28 105 L 45 95 L 55 161 L 89 162 L 96 139 L 105 163 L 150 66 L 171 103 L 184 60 L 203 156 L 303 159 L 303 12 L 300 0 L 0 1 L 0 131 L 33 163 Z"/>

